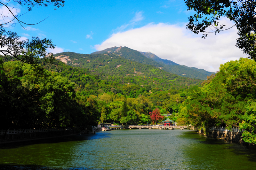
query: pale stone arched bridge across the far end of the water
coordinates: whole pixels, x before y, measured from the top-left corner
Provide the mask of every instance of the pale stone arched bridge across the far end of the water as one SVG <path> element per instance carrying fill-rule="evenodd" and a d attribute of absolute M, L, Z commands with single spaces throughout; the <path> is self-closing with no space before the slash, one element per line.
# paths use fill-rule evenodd
<path fill-rule="evenodd" d="M 139 128 L 139 129 L 142 129 L 142 128 L 148 128 L 148 129 L 195 129 L 193 126 L 157 126 L 157 125 L 145 125 L 145 126 L 139 126 L 139 125 L 129 125 L 129 126 L 126 126 L 124 128 L 129 128 L 129 129 L 132 129 L 132 128 Z"/>

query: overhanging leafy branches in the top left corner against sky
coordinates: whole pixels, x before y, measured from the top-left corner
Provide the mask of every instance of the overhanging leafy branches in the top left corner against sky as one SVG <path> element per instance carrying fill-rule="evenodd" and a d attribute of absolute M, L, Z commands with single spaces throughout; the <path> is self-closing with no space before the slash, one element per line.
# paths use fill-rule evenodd
<path fill-rule="evenodd" d="M 10 55 L 24 63 L 31 64 L 33 66 L 37 66 L 38 60 L 40 58 L 44 58 L 47 61 L 52 61 L 54 58 L 50 56 L 49 58 L 45 58 L 47 52 L 47 48 L 55 48 L 55 45 L 52 43 L 50 39 L 42 39 L 40 40 L 39 37 L 32 37 L 29 40 L 20 41 L 20 36 L 17 35 L 15 32 L 7 31 L 4 29 L 5 26 L 12 26 L 13 24 L 19 23 L 21 27 L 26 29 L 23 25 L 36 25 L 40 22 L 35 24 L 29 24 L 20 19 L 20 16 L 26 14 L 23 13 L 19 15 L 17 10 L 14 8 L 9 7 L 9 3 L 14 2 L 18 3 L 20 6 L 27 5 L 28 11 L 31 11 L 35 6 L 44 6 L 47 7 L 48 5 L 53 5 L 55 7 L 61 7 L 64 5 L 64 0 L 9 0 L 7 2 L 0 1 L 0 5 L 8 11 L 8 15 L 6 16 L 3 12 L 0 14 L 4 23 L 0 24 L 0 53 L 6 55 Z M 5 18 L 11 18 L 9 21 L 5 20 Z"/>

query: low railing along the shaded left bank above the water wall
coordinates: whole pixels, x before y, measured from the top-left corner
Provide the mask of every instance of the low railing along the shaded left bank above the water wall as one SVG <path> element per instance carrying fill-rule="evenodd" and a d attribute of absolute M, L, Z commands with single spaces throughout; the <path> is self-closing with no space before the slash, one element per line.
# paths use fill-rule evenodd
<path fill-rule="evenodd" d="M 68 129 L 19 129 L 19 130 L 6 130 L 6 135 L 9 134 L 21 134 L 21 133 L 36 133 L 36 132 L 50 132 L 50 131 L 61 131 Z M 0 135 L 4 135 L 5 130 L 0 131 Z"/>

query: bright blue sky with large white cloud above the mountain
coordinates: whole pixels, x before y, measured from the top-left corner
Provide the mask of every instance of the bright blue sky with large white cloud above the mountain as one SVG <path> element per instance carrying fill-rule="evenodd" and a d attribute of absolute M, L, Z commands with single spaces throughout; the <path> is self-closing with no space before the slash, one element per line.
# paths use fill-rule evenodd
<path fill-rule="evenodd" d="M 27 12 L 25 6 L 12 5 L 19 14 Z M 52 39 L 57 46 L 49 50 L 53 53 L 88 54 L 121 45 L 212 72 L 218 71 L 220 64 L 246 57 L 235 47 L 236 29 L 210 35 L 207 40 L 186 30 L 194 12 L 187 11 L 183 0 L 67 0 L 64 7 L 53 8 L 35 7 L 21 16 L 31 24 L 46 18 L 36 25 L 23 25 L 27 30 L 18 24 L 7 29 L 21 39 Z M 232 25 L 227 19 L 220 22 Z"/>

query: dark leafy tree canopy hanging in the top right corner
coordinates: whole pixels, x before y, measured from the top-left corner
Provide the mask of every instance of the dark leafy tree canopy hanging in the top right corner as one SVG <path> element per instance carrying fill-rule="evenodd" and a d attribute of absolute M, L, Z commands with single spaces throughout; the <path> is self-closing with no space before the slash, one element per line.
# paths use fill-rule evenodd
<path fill-rule="evenodd" d="M 229 28 L 219 25 L 218 20 L 226 17 L 234 22 L 237 28 L 236 46 L 243 49 L 249 58 L 256 59 L 256 1 L 255 0 L 186 0 L 188 10 L 196 11 L 189 17 L 187 29 L 198 34 L 203 33 L 202 38 L 207 36 L 208 30 L 220 33 Z M 210 28 L 210 29 L 207 29 Z"/>

